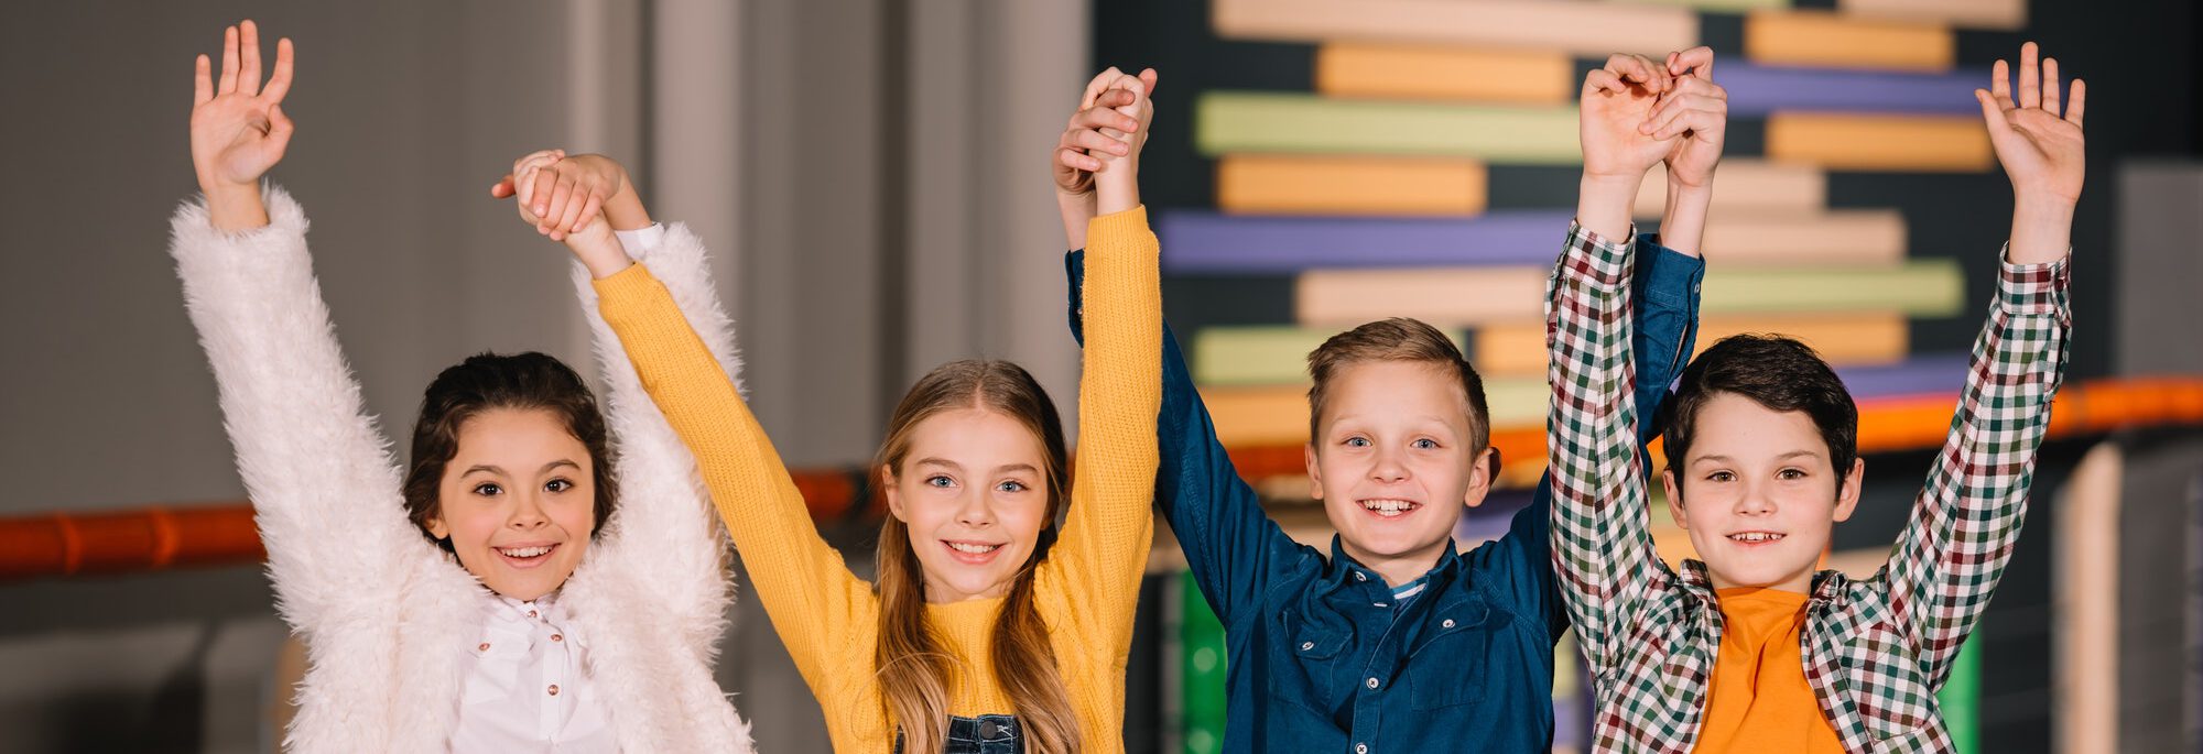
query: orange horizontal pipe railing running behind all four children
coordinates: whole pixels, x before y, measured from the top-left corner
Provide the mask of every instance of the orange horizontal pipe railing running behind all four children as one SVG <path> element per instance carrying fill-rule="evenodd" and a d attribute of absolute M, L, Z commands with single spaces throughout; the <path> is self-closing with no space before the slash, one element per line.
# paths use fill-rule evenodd
<path fill-rule="evenodd" d="M 1859 452 L 1928 450 L 1950 432 L 1956 397 L 1917 395 L 1859 403 Z M 2095 379 L 2058 395 L 2049 437 L 2104 434 L 2124 428 L 2203 426 L 2203 377 Z M 1491 448 L 1502 481 L 1535 481 L 1544 467 L 1544 428 L 1496 428 Z M 1654 463 L 1659 445 L 1654 443 Z M 1231 448 L 1247 478 L 1304 474 L 1302 445 Z M 811 518 L 831 520 L 875 509 L 861 470 L 795 472 Z M 866 498 L 859 500 L 859 494 Z M 0 582 L 44 575 L 143 573 L 176 567 L 260 562 L 260 536 L 249 503 L 143 507 L 99 514 L 33 514 L 0 518 Z"/>

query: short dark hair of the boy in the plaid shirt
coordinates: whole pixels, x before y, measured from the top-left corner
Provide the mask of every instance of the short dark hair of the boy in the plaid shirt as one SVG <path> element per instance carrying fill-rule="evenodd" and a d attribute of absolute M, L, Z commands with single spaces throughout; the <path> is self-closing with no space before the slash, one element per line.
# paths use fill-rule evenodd
<path fill-rule="evenodd" d="M 1859 459 L 1859 406 L 1851 401 L 1851 390 L 1828 362 L 1802 342 L 1745 333 L 1723 337 L 1692 359 L 1674 397 L 1661 403 L 1659 426 L 1668 443 L 1668 467 L 1690 459 L 1699 412 L 1723 392 L 1743 395 L 1767 410 L 1804 412 L 1828 443 L 1828 463 L 1837 476 L 1851 474 L 1853 461 Z M 1676 474 L 1676 485 L 1683 476 Z"/>

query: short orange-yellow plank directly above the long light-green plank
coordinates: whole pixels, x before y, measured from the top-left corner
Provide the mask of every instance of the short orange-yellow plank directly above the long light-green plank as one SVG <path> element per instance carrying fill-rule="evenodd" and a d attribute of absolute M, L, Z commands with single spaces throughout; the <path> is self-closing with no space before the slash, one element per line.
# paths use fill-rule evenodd
<path fill-rule="evenodd" d="M 1315 51 L 1315 90 L 1326 97 L 1566 104 L 1575 97 L 1575 62 L 1558 51 L 1331 42 Z"/>

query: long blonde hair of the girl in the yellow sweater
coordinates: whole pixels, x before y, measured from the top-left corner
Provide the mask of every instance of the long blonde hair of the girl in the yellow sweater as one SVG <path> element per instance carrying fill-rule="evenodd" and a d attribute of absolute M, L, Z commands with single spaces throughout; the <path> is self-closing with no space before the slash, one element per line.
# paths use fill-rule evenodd
<path fill-rule="evenodd" d="M 1049 626 L 1033 606 L 1033 573 L 1055 545 L 1055 518 L 1071 503 L 1071 463 L 1064 450 L 1064 426 L 1046 390 L 1024 368 L 1011 362 L 949 362 L 910 386 L 888 419 L 888 439 L 872 463 L 879 481 L 901 474 L 910 454 L 912 430 L 938 412 L 983 408 L 1016 419 L 1046 450 L 1049 514 L 1033 556 L 1018 567 L 1002 613 L 994 626 L 994 679 L 1013 699 L 1024 750 L 1033 754 L 1075 754 L 1079 721 L 1071 710 L 1071 692 L 1055 668 Z M 879 527 L 879 644 L 872 661 L 879 668 L 879 697 L 890 721 L 901 728 L 901 752 L 941 752 L 949 725 L 949 657 L 941 639 L 925 626 L 925 578 L 919 553 L 910 549 L 910 527 L 888 516 Z"/>

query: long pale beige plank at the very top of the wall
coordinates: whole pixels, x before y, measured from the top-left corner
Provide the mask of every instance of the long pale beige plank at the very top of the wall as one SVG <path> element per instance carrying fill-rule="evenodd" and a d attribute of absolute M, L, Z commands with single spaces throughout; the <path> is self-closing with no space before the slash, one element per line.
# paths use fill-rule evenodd
<path fill-rule="evenodd" d="M 1472 44 L 1597 57 L 1699 44 L 1699 13 L 1690 9 L 1610 2 L 1216 0 L 1209 26 L 1227 40 Z"/>

